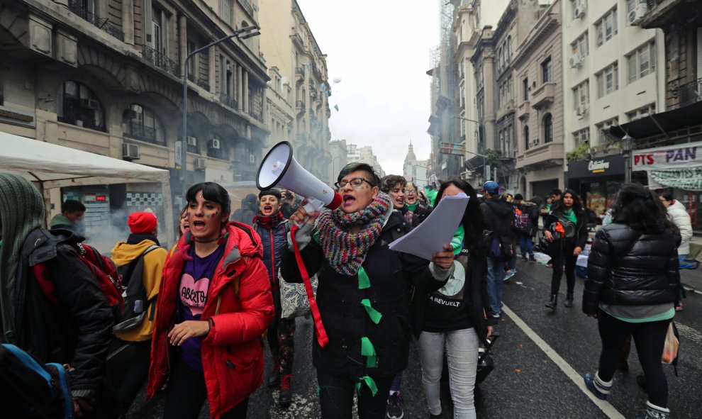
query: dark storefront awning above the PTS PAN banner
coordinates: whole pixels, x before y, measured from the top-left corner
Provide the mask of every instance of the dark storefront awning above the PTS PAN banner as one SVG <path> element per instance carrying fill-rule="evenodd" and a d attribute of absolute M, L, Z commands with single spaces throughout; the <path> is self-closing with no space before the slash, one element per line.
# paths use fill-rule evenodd
<path fill-rule="evenodd" d="M 654 113 L 636 121 L 613 126 L 609 128 L 609 133 L 616 138 L 622 138 L 626 134 L 635 139 L 647 138 L 689 125 L 697 125 L 700 123 L 701 116 L 702 101 L 699 101 L 672 111 Z"/>

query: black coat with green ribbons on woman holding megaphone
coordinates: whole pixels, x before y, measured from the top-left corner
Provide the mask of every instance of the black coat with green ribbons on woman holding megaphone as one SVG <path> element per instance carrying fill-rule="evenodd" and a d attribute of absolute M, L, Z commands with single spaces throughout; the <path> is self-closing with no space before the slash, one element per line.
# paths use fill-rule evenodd
<path fill-rule="evenodd" d="M 370 279 L 368 289 L 358 288 L 358 275 L 345 276 L 330 267 L 315 240 L 301 250 L 308 273 L 318 272 L 317 305 L 329 337 L 325 347 L 313 340 L 312 362 L 317 369 L 352 377 L 387 377 L 407 367 L 411 287 L 421 282 L 429 289 L 439 289 L 446 282 L 433 278 L 426 259 L 389 249 L 390 242 L 409 230 L 401 213 L 393 211 L 362 265 Z M 284 252 L 281 270 L 286 281 L 302 281 L 294 253 Z M 377 325 L 361 305 L 364 298 L 383 315 Z M 367 368 L 366 357 L 361 355 L 364 336 L 375 347 L 375 368 Z"/>

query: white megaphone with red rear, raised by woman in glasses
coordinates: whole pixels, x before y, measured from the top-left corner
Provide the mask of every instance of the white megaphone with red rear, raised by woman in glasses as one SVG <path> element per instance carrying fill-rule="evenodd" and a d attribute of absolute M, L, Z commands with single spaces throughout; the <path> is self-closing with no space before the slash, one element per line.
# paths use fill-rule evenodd
<path fill-rule="evenodd" d="M 290 189 L 307 199 L 303 207 L 308 213 L 320 211 L 323 206 L 336 209 L 342 198 L 333 188 L 306 171 L 293 157 L 287 141 L 273 146 L 264 157 L 256 174 L 256 186 L 265 191 L 273 186 Z"/>

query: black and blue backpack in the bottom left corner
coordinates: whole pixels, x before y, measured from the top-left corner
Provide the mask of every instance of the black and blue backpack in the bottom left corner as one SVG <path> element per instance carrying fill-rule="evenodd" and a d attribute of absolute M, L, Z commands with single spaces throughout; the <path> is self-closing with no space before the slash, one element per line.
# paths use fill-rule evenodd
<path fill-rule="evenodd" d="M 41 364 L 15 345 L 0 345 L 0 403 L 4 418 L 68 419 L 73 415 L 65 368 Z"/>

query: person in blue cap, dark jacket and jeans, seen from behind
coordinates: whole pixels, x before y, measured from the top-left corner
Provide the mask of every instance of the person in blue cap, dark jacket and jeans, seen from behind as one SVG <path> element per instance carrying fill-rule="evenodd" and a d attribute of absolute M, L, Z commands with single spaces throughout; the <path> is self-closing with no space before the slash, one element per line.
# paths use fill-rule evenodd
<path fill-rule="evenodd" d="M 480 209 L 485 218 L 485 228 L 492 231 L 494 238 L 503 244 L 512 242 L 514 211 L 509 203 L 500 199 L 500 185 L 496 181 L 486 181 L 483 185 L 484 202 Z M 502 312 L 502 296 L 505 279 L 505 261 L 487 257 L 487 291 L 490 297 L 491 315 L 499 318 Z"/>

